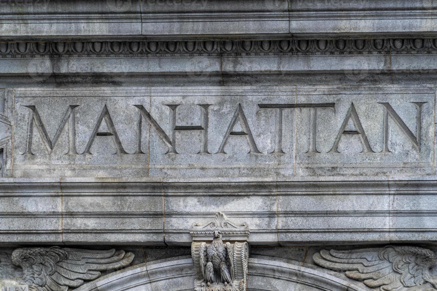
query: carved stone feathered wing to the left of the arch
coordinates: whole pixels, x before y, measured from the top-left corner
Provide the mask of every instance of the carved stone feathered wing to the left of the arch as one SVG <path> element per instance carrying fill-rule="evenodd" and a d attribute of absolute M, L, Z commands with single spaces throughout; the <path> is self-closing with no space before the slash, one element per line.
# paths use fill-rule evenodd
<path fill-rule="evenodd" d="M 127 266 L 133 258 L 133 253 L 114 249 L 19 248 L 12 256 L 0 253 L 0 286 L 28 284 L 30 291 L 67 291 L 96 279 L 100 270 Z"/>

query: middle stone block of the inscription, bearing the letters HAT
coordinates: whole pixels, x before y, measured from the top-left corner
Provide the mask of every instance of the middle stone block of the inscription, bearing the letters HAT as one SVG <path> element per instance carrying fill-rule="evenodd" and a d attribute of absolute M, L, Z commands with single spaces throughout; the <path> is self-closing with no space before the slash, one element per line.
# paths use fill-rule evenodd
<path fill-rule="evenodd" d="M 275 150 L 280 143 L 279 140 L 274 143 L 280 130 L 275 127 L 275 109 L 258 107 L 258 103 L 291 102 L 293 95 L 294 90 L 288 88 L 152 89 L 152 116 L 164 129 L 175 126 L 180 130 L 173 133 L 165 130 L 174 134 L 174 150 L 178 154 L 169 152 L 156 131 L 151 130 L 149 175 L 193 178 L 293 175 L 290 165 L 294 158 L 294 114 L 288 110 L 282 116 L 279 137 L 285 151 L 282 154 Z M 170 125 L 174 113 L 175 119 L 171 121 L 174 125 Z M 204 130 L 195 129 L 205 126 L 202 120 L 205 124 L 208 120 L 207 139 Z M 274 151 L 277 153 L 268 154 Z"/>

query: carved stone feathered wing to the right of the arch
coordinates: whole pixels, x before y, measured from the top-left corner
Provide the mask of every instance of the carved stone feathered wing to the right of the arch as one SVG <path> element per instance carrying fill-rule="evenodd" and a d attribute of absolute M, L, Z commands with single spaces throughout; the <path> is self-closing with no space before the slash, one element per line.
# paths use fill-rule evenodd
<path fill-rule="evenodd" d="M 322 267 L 346 270 L 347 277 L 381 291 L 406 291 L 427 282 L 437 288 L 437 274 L 433 274 L 437 258 L 433 251 L 417 246 L 321 250 L 313 259 Z"/>

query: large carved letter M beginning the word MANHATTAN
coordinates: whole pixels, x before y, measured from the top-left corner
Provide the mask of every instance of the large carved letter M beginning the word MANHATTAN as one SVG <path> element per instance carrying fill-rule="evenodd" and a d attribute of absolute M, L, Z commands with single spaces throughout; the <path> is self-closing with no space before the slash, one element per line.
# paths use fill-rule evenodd
<path fill-rule="evenodd" d="M 67 122 L 68 122 L 68 153 L 67 154 L 77 154 L 76 151 L 76 127 L 75 127 L 75 117 L 74 110 L 79 105 L 70 105 L 67 108 L 64 117 L 61 120 L 61 124 L 59 124 L 58 130 L 56 130 L 55 136 L 52 140 L 50 140 L 49 134 L 47 134 L 47 130 L 45 130 L 45 126 L 42 123 L 41 117 L 39 116 L 38 110 L 35 106 L 24 106 L 31 110 L 31 114 L 29 115 L 28 120 L 28 130 L 27 130 L 27 140 L 26 140 L 26 150 L 23 154 L 33 154 L 32 153 L 32 137 L 33 137 L 33 128 L 38 129 L 39 135 L 42 138 L 42 141 L 47 147 L 47 152 L 49 154 L 52 153 L 53 149 L 56 146 L 56 143 L 59 140 L 59 136 L 62 134 Z"/>

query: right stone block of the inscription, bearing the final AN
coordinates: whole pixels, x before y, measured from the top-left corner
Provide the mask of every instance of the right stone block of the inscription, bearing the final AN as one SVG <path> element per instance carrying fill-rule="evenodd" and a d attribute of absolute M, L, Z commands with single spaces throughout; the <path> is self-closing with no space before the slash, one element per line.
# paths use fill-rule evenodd
<path fill-rule="evenodd" d="M 433 87 L 297 90 L 298 103 L 335 106 L 298 111 L 297 136 L 305 138 L 298 138 L 296 144 L 296 175 L 432 175 Z"/>

